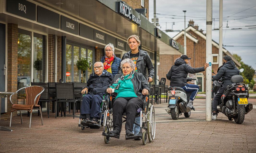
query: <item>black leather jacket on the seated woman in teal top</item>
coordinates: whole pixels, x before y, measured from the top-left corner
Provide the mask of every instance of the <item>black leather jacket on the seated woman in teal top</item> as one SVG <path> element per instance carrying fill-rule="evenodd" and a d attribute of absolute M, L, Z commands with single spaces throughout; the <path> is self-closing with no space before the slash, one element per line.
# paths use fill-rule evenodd
<path fill-rule="evenodd" d="M 121 73 L 116 74 L 114 82 L 115 82 L 116 79 L 121 78 L 121 76 L 122 76 Z M 150 87 L 147 83 L 147 80 L 142 75 L 142 73 L 138 72 L 138 73 L 134 73 L 133 78 L 131 79 L 131 81 L 132 81 L 132 84 L 133 84 L 133 87 L 134 87 L 135 94 L 143 101 L 144 95 L 142 94 L 142 90 L 147 89 L 148 93 L 150 93 L 150 91 L 151 91 L 151 89 L 150 89 Z"/>

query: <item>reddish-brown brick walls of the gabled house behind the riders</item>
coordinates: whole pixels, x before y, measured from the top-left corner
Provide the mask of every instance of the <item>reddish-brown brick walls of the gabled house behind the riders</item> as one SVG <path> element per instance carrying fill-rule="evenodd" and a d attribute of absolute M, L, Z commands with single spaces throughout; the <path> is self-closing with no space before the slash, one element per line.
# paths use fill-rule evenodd
<path fill-rule="evenodd" d="M 191 57 L 190 59 L 191 67 L 195 67 L 195 68 L 202 67 L 205 65 L 205 62 L 206 62 L 206 40 L 204 40 L 202 37 L 200 37 L 193 31 L 188 31 L 188 33 L 193 35 L 198 40 L 198 43 L 196 44 L 190 39 L 188 38 L 186 39 L 187 55 L 188 57 Z M 184 45 L 184 36 L 179 37 L 176 41 L 181 45 Z M 195 48 L 195 55 L 194 55 L 194 48 Z M 212 54 L 218 54 L 218 53 L 219 53 L 219 49 L 215 46 L 212 46 Z M 174 60 L 178 57 L 180 57 L 180 55 L 160 55 L 160 65 L 158 69 L 158 75 L 160 79 L 166 78 L 166 74 L 168 73 L 172 65 L 174 65 Z M 217 72 L 218 64 L 212 64 L 212 69 L 215 72 Z M 205 81 L 206 81 L 205 71 L 203 71 L 202 73 L 204 75 L 204 91 L 205 91 L 206 89 L 205 88 Z M 169 83 L 170 81 L 167 80 L 166 85 L 169 85 Z"/>

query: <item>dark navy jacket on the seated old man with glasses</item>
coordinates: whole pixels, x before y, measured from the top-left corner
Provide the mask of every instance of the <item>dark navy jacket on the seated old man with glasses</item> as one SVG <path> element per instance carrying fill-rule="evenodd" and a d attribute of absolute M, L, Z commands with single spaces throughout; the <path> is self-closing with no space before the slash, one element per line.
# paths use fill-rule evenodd
<path fill-rule="evenodd" d="M 88 79 L 85 88 L 88 88 L 88 93 L 92 96 L 96 94 L 105 94 L 106 88 L 114 79 L 113 74 L 106 70 L 103 71 L 105 71 L 105 73 L 101 76 L 95 74 L 95 72 L 90 74 L 90 78 Z"/>

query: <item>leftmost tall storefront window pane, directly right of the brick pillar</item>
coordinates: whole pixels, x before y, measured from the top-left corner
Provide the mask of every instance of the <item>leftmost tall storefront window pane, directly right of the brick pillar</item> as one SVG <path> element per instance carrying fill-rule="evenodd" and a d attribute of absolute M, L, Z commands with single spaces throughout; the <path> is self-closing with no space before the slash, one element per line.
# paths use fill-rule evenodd
<path fill-rule="evenodd" d="M 17 85 L 18 89 L 30 85 L 30 66 L 31 66 L 31 32 L 18 29 L 18 78 Z M 18 93 L 18 102 L 23 103 L 24 101 L 19 101 L 19 99 L 25 99 L 25 90 Z"/>

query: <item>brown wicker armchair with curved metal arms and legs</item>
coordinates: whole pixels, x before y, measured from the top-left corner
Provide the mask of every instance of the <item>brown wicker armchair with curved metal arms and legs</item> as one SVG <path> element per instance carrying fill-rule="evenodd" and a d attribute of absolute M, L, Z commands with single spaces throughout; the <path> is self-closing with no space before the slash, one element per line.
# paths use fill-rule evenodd
<path fill-rule="evenodd" d="M 27 110 L 30 112 L 30 121 L 29 121 L 29 128 L 31 125 L 31 117 L 32 117 L 32 110 L 33 109 L 37 109 L 40 111 L 41 114 L 41 122 L 43 125 L 43 118 L 42 118 L 42 112 L 41 112 L 41 107 L 38 104 L 38 100 L 40 98 L 40 95 L 42 92 L 44 92 L 44 87 L 42 86 L 27 86 L 27 87 L 23 87 L 20 88 L 19 90 L 17 90 L 16 92 L 25 89 L 25 93 L 26 93 L 26 104 L 13 104 L 12 102 L 12 95 L 10 95 L 10 102 L 12 103 L 12 109 L 11 109 L 11 119 L 10 119 L 10 126 L 12 124 L 12 113 L 15 110 L 19 110 L 20 112 L 20 120 L 21 120 L 21 124 L 23 124 L 22 121 L 22 114 L 21 114 L 21 110 Z M 39 108 L 34 108 L 34 107 L 39 107 Z"/>

